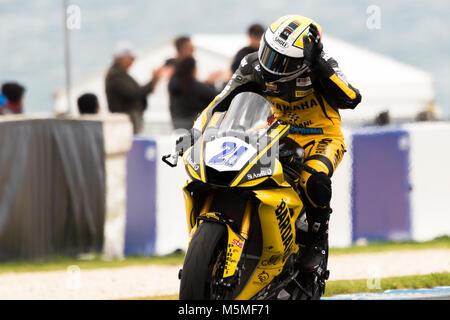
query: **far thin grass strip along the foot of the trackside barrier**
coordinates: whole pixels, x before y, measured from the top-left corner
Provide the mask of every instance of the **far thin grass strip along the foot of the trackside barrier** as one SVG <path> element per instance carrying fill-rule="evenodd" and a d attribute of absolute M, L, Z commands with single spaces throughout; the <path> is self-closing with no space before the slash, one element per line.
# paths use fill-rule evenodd
<path fill-rule="evenodd" d="M 371 242 L 349 248 L 330 248 L 330 255 L 376 253 L 397 250 L 450 249 L 450 237 L 440 237 L 427 242 Z M 39 261 L 0 262 L 0 274 L 7 272 L 40 272 L 66 270 L 68 266 L 77 265 L 81 269 L 121 268 L 142 265 L 180 265 L 183 264 L 185 252 L 167 256 L 127 257 L 126 259 L 105 261 L 100 256 L 90 259 L 54 257 Z"/>

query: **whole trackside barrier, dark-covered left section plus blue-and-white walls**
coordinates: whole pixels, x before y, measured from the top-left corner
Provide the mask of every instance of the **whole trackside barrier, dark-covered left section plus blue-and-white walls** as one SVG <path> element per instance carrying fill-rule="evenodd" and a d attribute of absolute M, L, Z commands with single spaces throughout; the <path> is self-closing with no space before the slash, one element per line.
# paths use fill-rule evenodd
<path fill-rule="evenodd" d="M 450 235 L 450 123 L 344 130 L 330 244 Z M 0 260 L 186 249 L 176 136 L 132 137 L 126 116 L 0 119 Z"/>

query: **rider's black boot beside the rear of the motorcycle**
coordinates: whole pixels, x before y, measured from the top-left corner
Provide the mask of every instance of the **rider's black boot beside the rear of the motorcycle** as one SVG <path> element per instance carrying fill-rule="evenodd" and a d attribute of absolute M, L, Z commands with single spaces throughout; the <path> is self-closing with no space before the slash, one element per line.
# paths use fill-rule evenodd
<path fill-rule="evenodd" d="M 309 210 L 308 210 L 309 209 Z M 308 234 L 306 247 L 300 257 L 302 271 L 317 270 L 326 259 L 328 250 L 328 221 L 332 210 L 327 208 L 307 208 Z"/>

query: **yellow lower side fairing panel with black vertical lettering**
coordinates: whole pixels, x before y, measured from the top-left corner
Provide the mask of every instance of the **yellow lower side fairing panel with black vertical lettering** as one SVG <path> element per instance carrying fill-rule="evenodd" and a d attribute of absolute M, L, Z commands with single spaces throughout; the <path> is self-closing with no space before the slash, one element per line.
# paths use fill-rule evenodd
<path fill-rule="evenodd" d="M 254 192 L 261 200 L 258 215 L 263 248 L 258 266 L 246 287 L 236 297 L 238 300 L 251 299 L 280 274 L 286 259 L 298 252 L 295 244 L 295 221 L 303 208 L 298 194 L 290 188 Z"/>

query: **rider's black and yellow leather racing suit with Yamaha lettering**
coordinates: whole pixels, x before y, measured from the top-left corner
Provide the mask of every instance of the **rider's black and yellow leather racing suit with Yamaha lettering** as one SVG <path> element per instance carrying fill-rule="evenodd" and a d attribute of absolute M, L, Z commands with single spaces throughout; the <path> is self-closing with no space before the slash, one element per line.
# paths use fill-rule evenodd
<path fill-rule="evenodd" d="M 328 71 L 314 72 L 304 66 L 300 75 L 293 79 L 268 83 L 261 72 L 257 53 L 247 55 L 194 127 L 203 130 L 213 113 L 225 111 L 238 93 L 259 93 L 272 102 L 275 118 L 291 124 L 288 137 L 305 150 L 304 162 L 331 178 L 346 150 L 339 109 L 354 109 L 361 95 L 347 82 L 333 58 L 322 52 L 321 59 Z M 321 202 L 320 195 L 318 198 L 314 187 L 309 188 L 310 176 L 302 171 L 301 185 L 308 200 L 314 207 L 328 206 L 329 199 L 328 203 L 316 203 Z"/>

